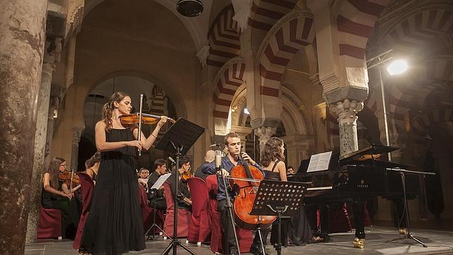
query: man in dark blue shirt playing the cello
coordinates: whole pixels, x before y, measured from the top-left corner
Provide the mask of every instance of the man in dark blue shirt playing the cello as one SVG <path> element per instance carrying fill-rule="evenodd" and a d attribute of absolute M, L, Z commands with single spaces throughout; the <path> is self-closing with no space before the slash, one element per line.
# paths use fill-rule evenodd
<path fill-rule="evenodd" d="M 260 171 L 262 168 L 258 165 L 255 161 L 253 161 L 248 154 L 245 152 L 241 152 L 241 137 L 235 132 L 230 132 L 229 134 L 225 135 L 224 137 L 224 144 L 225 149 L 228 151 L 227 155 L 222 157 L 222 175 L 227 176 L 231 172 L 231 169 L 234 168 L 236 165 L 243 165 L 243 161 L 239 158 L 239 154 L 241 154 L 243 160 L 248 161 L 252 166 L 255 166 Z M 207 175 L 212 175 L 216 173 L 215 163 L 209 163 L 207 168 L 203 169 L 203 173 Z M 238 254 L 238 247 L 236 247 L 236 241 L 234 238 L 234 228 L 231 225 L 231 220 L 228 220 L 227 214 L 228 210 L 226 208 L 227 201 L 225 195 L 225 187 L 222 183 L 222 180 L 218 180 L 218 187 L 219 192 L 217 193 L 217 210 L 221 213 L 221 223 L 223 230 L 227 230 L 228 236 L 224 238 L 228 239 L 229 242 L 229 253 L 228 254 Z M 234 199 L 236 194 L 234 192 L 229 192 L 229 197 Z M 225 247 L 227 249 L 227 247 Z M 260 242 L 260 235 L 255 235 L 253 239 L 253 244 L 250 247 L 250 253 L 252 254 L 262 254 L 261 249 L 261 242 Z"/>

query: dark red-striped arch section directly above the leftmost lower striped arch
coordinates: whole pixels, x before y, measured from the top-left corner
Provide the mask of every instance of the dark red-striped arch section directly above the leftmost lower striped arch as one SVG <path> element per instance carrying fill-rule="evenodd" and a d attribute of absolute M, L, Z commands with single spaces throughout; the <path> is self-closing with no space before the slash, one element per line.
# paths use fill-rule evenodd
<path fill-rule="evenodd" d="M 239 41 L 238 23 L 233 20 L 233 5 L 225 7 L 212 23 L 208 32 L 209 56 L 208 66 L 222 67 L 229 59 L 239 56 L 241 42 Z"/>

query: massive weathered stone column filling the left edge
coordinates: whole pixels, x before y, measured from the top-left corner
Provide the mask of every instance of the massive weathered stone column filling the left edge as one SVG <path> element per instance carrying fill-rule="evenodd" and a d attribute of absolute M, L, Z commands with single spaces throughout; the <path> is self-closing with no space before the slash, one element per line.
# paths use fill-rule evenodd
<path fill-rule="evenodd" d="M 46 0 L 0 1 L 0 251 L 23 254 Z"/>

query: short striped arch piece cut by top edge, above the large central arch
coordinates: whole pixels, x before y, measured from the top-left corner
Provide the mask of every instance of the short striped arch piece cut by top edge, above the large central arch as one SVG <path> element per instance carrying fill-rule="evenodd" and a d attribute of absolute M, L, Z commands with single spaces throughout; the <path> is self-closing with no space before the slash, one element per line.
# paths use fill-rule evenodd
<path fill-rule="evenodd" d="M 250 27 L 269 31 L 284 15 L 293 11 L 298 0 L 253 0 Z"/>

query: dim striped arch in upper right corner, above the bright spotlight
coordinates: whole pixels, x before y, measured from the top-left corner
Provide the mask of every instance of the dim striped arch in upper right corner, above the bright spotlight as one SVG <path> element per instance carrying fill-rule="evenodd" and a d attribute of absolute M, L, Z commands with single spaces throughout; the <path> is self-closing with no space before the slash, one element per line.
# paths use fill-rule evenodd
<path fill-rule="evenodd" d="M 381 49 L 410 53 L 428 40 L 442 34 L 453 34 L 453 14 L 451 6 L 430 8 L 409 13 L 397 26 L 393 27 L 381 42 Z"/>

